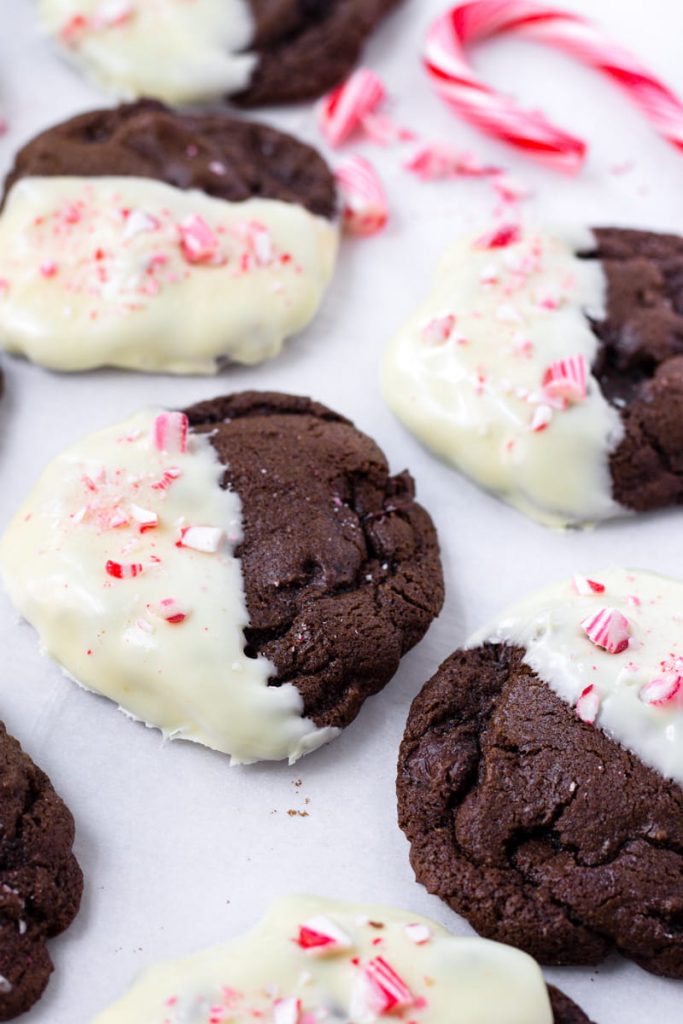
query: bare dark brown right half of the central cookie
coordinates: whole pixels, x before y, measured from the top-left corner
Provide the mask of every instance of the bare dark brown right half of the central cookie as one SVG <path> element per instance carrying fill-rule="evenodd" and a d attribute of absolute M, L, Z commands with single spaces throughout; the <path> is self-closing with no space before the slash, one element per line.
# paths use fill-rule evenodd
<path fill-rule="evenodd" d="M 304 715 L 343 727 L 391 679 L 443 601 L 431 519 L 408 473 L 348 420 L 246 392 L 185 411 L 242 500 L 247 650 L 293 683 Z"/>

